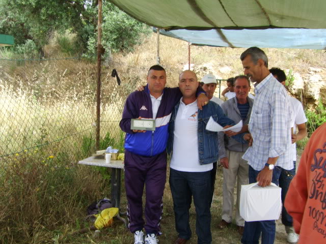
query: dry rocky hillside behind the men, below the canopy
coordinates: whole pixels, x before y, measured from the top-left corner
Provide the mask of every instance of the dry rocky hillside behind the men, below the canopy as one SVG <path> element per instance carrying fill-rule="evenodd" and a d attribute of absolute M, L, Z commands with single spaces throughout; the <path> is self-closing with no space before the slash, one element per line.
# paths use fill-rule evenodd
<path fill-rule="evenodd" d="M 218 79 L 227 79 L 243 74 L 240 54 L 244 48 L 191 46 L 192 69 L 199 79 L 213 73 Z M 289 93 L 301 100 L 304 106 L 313 108 L 320 99 L 326 104 L 326 53 L 324 50 L 309 49 L 263 49 L 268 56 L 268 67 L 279 67 L 293 76 Z M 144 44 L 132 53 L 118 53 L 112 56 L 116 62 L 148 69 L 156 64 L 156 36 L 148 37 Z M 178 73 L 188 67 L 188 43 L 161 36 L 160 64 L 171 70 L 168 85 L 177 85 Z M 145 82 L 144 77 L 144 82 Z M 222 82 L 221 91 L 226 87 Z M 253 90 L 252 90 L 253 92 Z M 216 89 L 218 96 L 219 89 Z"/>

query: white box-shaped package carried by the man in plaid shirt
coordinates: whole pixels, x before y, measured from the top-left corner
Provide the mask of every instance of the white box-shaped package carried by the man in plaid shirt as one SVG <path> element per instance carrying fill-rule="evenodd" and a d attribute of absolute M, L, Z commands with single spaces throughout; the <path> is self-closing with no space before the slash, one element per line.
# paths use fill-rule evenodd
<path fill-rule="evenodd" d="M 241 186 L 240 216 L 247 222 L 278 220 L 282 210 L 281 188 L 271 183 L 260 187 L 258 182 Z"/>

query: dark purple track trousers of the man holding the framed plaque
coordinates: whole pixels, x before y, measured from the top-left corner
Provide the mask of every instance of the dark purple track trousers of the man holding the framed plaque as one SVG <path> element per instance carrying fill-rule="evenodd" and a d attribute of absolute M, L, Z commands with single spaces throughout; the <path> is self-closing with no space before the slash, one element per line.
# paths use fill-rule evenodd
<path fill-rule="evenodd" d="M 163 192 L 167 177 L 166 152 L 153 157 L 143 157 L 126 150 L 124 175 L 129 230 L 133 233 L 145 227 L 147 234 L 159 235 L 159 222 L 163 211 Z M 146 224 L 143 220 L 144 185 L 146 186 Z"/>

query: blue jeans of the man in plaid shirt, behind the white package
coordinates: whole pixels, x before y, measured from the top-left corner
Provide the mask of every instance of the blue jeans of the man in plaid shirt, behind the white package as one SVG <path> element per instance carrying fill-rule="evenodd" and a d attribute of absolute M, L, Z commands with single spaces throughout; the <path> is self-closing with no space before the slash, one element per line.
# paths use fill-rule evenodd
<path fill-rule="evenodd" d="M 275 167 L 273 170 L 273 178 L 271 182 L 279 185 L 279 177 L 282 168 Z M 249 184 L 257 182 L 256 178 L 260 171 L 254 170 L 249 166 Z M 275 220 L 266 221 L 252 221 L 244 222 L 244 231 L 241 238 L 241 243 L 243 244 L 259 244 L 259 237 L 261 233 L 261 243 L 262 244 L 273 244 L 275 240 Z"/>

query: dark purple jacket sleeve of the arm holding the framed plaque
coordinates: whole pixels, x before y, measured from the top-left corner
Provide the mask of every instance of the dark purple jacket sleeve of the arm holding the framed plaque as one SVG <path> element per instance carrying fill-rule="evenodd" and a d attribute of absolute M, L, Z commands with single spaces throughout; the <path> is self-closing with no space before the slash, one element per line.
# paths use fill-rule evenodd
<path fill-rule="evenodd" d="M 138 118 L 139 117 L 139 110 L 138 110 L 138 93 L 144 92 L 133 92 L 131 93 L 126 103 L 124 104 L 123 112 L 122 112 L 122 119 L 120 120 L 119 126 L 122 131 L 133 134 L 131 127 L 131 118 Z"/>

